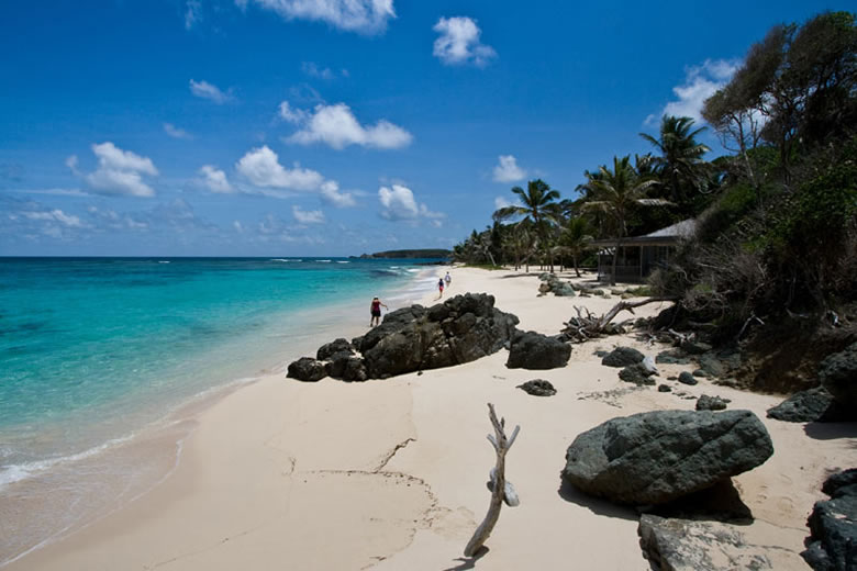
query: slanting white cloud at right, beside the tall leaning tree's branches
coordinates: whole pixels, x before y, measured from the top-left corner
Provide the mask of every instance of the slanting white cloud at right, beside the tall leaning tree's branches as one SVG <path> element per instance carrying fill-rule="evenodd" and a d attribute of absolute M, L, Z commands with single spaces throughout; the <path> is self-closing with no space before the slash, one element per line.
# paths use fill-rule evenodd
<path fill-rule="evenodd" d="M 656 125 L 663 115 L 687 116 L 701 123 L 702 104 L 728 82 L 738 66 L 735 60 L 706 59 L 700 66 L 689 67 L 685 82 L 672 88 L 678 100 L 667 103 L 659 115 L 646 117 L 645 124 Z"/>

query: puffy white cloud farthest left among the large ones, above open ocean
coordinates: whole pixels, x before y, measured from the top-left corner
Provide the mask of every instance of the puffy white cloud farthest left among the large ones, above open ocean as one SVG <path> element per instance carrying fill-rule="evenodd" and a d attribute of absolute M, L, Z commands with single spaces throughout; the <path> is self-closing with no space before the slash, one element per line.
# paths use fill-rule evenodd
<path fill-rule="evenodd" d="M 100 194 L 154 197 L 155 191 L 143 181 L 143 175 L 157 176 L 158 170 L 148 157 L 122 150 L 113 143 L 92 145 L 98 157 L 98 168 L 84 179 Z M 74 155 L 73 155 L 74 157 Z M 77 168 L 77 158 L 66 159 L 66 165 Z"/>

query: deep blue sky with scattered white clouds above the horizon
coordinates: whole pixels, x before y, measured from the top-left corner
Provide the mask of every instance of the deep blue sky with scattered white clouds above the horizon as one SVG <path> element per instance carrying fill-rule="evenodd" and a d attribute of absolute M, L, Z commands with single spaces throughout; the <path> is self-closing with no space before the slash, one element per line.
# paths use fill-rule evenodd
<path fill-rule="evenodd" d="M 846 8 L 3 2 L 0 255 L 450 247 L 513 186 L 574 198 L 647 152 L 771 25 Z"/>

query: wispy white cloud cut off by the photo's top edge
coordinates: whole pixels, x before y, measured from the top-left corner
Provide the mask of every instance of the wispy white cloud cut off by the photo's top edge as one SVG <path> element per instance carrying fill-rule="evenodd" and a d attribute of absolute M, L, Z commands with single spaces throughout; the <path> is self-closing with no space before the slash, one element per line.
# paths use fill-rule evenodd
<path fill-rule="evenodd" d="M 277 12 L 286 20 L 310 20 L 347 30 L 372 34 L 387 27 L 396 18 L 393 0 L 252 0 L 265 10 Z M 235 0 L 240 8 L 248 0 Z"/>

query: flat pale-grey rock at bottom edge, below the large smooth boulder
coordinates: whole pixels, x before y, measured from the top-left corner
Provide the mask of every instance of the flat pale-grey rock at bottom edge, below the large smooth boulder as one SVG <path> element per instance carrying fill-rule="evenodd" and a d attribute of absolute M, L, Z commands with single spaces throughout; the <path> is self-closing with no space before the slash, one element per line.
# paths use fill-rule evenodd
<path fill-rule="evenodd" d="M 644 514 L 637 527 L 639 547 L 660 571 L 773 569 L 780 548 L 753 545 L 739 528 L 721 522 L 664 518 Z M 728 567 L 724 562 L 728 561 Z"/>

